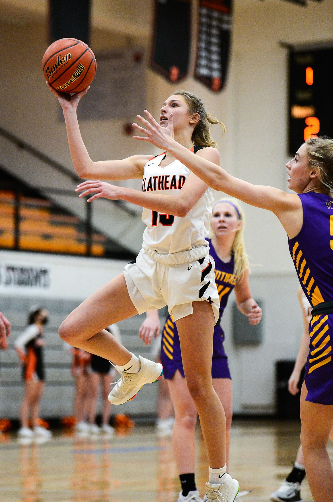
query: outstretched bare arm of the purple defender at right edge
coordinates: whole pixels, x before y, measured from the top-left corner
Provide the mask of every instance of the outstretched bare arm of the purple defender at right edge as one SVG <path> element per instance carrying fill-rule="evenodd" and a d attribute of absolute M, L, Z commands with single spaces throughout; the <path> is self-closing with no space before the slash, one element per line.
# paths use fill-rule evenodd
<path fill-rule="evenodd" d="M 148 141 L 158 148 L 167 150 L 215 190 L 223 191 L 252 206 L 272 211 L 280 219 L 289 237 L 298 233 L 302 222 L 302 206 L 297 195 L 287 194 L 274 187 L 252 185 L 231 176 L 219 165 L 199 155 L 200 152 L 194 154 L 174 140 L 172 114 L 167 127 L 161 127 L 147 110 L 145 114 L 148 120 L 137 115 L 145 127 L 135 123 L 133 127 L 146 136 L 134 136 L 135 139 Z"/>

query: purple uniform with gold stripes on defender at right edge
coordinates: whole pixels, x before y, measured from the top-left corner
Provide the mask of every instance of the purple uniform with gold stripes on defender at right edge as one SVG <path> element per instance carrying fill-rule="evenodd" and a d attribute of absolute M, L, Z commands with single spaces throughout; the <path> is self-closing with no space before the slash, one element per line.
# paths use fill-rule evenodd
<path fill-rule="evenodd" d="M 333 300 L 333 200 L 313 192 L 298 196 L 303 225 L 289 239 L 289 250 L 305 296 L 315 307 Z M 333 405 L 332 332 L 333 314 L 312 317 L 304 376 L 306 401 L 311 403 Z"/>

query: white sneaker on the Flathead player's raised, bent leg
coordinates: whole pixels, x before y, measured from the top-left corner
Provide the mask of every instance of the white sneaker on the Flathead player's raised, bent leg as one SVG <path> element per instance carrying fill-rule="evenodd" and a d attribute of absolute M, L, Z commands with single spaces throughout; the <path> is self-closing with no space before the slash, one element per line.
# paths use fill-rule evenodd
<path fill-rule="evenodd" d="M 145 384 L 152 384 L 159 380 L 163 374 L 163 366 L 159 362 L 153 362 L 144 357 L 138 356 L 141 367 L 137 373 L 127 373 L 114 367 L 121 374 L 121 378 L 113 387 L 107 398 L 112 405 L 122 405 L 135 398 L 141 387 Z"/>

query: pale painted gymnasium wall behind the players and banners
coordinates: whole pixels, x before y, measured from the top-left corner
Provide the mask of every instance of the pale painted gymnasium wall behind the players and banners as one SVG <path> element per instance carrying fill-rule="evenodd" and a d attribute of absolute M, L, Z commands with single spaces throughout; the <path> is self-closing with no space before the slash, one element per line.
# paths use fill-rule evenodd
<path fill-rule="evenodd" d="M 0 49 L 6 55 L 0 72 L 0 124 L 70 167 L 65 127 L 57 121 L 58 103 L 45 89 L 40 68 L 47 46 L 46 2 L 8 0 L 0 1 L 1 4 L 7 5 L 7 18 L 0 27 Z M 27 14 L 27 5 L 35 9 L 34 18 Z M 133 41 L 146 44 L 151 6 L 152 2 L 146 5 L 127 0 L 94 2 L 93 49 L 107 49 Z M 14 8 L 16 12 L 23 9 L 24 19 L 11 17 Z M 282 0 L 235 0 L 233 23 L 225 91 L 213 94 L 192 77 L 180 85 L 170 84 L 147 70 L 147 107 L 157 116 L 165 97 L 177 87 L 199 94 L 208 111 L 214 112 L 227 127 L 223 141 L 221 131 L 217 126 L 214 129 L 223 167 L 253 183 L 286 189 L 287 50 L 279 44 L 331 40 L 333 3 L 331 0 L 320 3 L 308 0 L 304 8 Z M 117 31 L 117 35 L 112 36 L 108 28 Z M 41 33 L 44 33 L 42 39 Z M 82 135 L 94 160 L 121 158 L 133 152 L 155 152 L 148 145 L 124 137 L 121 126 L 121 120 L 82 122 Z M 20 170 L 21 167 L 15 168 Z M 297 280 L 288 256 L 286 236 L 275 216 L 247 206 L 245 211 L 245 238 L 253 265 L 252 290 L 256 298 L 265 302 L 264 343 L 258 348 L 234 348 L 228 337 L 230 315 L 227 310 L 224 320 L 226 348 L 233 374 L 235 411 L 271 412 L 274 361 L 294 357 L 300 341 Z M 140 238 L 134 237 L 139 246 Z"/>

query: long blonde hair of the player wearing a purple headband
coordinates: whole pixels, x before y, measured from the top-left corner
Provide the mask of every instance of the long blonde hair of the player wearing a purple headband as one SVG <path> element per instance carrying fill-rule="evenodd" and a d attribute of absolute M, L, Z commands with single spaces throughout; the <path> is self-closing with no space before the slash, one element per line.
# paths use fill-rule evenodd
<path fill-rule="evenodd" d="M 236 206 L 237 208 L 236 212 L 238 211 L 239 219 L 242 222 L 242 226 L 235 233 L 234 241 L 231 246 L 231 253 L 234 256 L 234 275 L 237 276 L 236 281 L 240 282 L 242 281 L 246 270 L 248 270 L 249 273 L 251 272 L 244 244 L 244 212 L 241 206 L 239 205 L 238 200 L 231 198 L 225 198 L 216 202 L 216 204 L 214 204 L 213 206 L 213 212 L 214 208 L 221 202 L 229 202 L 229 204 L 231 204 L 232 206 Z M 211 236 L 212 235 L 213 235 L 213 230 L 211 227 Z"/>

